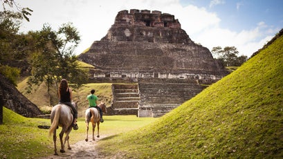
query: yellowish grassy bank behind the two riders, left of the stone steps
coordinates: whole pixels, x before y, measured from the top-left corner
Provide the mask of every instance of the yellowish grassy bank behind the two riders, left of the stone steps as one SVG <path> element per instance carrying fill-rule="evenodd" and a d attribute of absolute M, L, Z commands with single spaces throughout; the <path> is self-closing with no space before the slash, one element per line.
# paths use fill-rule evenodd
<path fill-rule="evenodd" d="M 33 91 L 27 93 L 27 82 L 28 78 L 23 79 L 19 84 L 17 84 L 18 90 L 25 95 L 31 102 L 37 105 L 37 107 L 44 111 L 44 113 L 50 113 L 52 106 L 58 103 L 58 96 L 56 87 L 52 87 L 50 93 L 48 94 L 47 86 L 44 82 L 39 84 L 39 86 L 33 86 Z M 86 101 L 86 96 L 90 94 L 91 89 L 95 89 L 95 95 L 98 95 L 99 102 L 105 102 L 107 106 L 111 105 L 112 98 L 112 88 L 111 84 L 108 83 L 90 83 L 83 84 L 82 87 L 78 89 L 73 89 L 73 100 L 79 101 L 78 103 L 78 115 L 79 117 L 84 117 L 84 111 L 88 108 L 88 102 Z"/>

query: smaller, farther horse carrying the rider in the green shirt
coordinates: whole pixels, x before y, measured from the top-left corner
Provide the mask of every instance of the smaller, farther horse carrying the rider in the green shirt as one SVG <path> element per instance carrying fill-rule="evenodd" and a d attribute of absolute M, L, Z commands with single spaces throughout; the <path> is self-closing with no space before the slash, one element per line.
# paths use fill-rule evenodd
<path fill-rule="evenodd" d="M 100 109 L 102 109 L 103 113 L 107 113 L 107 109 L 105 106 L 105 103 L 101 102 L 100 104 L 98 104 L 98 106 L 100 107 Z M 93 140 L 95 140 L 94 138 L 94 129 L 96 124 L 98 125 L 98 135 L 97 137 L 99 138 L 99 124 L 100 124 L 100 113 L 98 111 L 98 109 L 91 107 L 89 109 L 86 109 L 85 112 L 85 122 L 86 122 L 86 142 L 89 140 L 89 122 L 92 123 L 92 138 Z"/>

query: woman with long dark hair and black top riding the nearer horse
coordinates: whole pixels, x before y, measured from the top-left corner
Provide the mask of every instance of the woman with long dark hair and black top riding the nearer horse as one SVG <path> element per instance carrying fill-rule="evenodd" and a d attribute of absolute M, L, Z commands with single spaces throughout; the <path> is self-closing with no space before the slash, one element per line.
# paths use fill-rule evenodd
<path fill-rule="evenodd" d="M 69 88 L 68 82 L 66 79 L 62 79 L 60 82 L 60 86 L 58 89 L 58 95 L 59 95 L 59 104 L 66 104 L 71 107 L 73 110 L 73 129 L 77 130 L 77 109 L 72 104 L 72 89 Z"/>

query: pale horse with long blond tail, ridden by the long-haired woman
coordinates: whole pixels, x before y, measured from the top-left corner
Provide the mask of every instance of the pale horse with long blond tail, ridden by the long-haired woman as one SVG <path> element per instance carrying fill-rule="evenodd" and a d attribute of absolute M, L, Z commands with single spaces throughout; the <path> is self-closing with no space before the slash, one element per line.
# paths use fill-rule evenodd
<path fill-rule="evenodd" d="M 75 109 L 77 109 L 77 102 L 72 102 L 72 104 L 75 106 Z M 54 155 L 58 155 L 56 148 L 56 129 L 58 126 L 62 127 L 62 131 L 59 134 L 61 143 L 60 152 L 64 153 L 64 146 L 66 142 L 68 143 L 68 149 L 71 149 L 69 144 L 69 133 L 71 133 L 73 128 L 73 114 L 70 106 L 66 104 L 57 104 L 53 106 L 53 109 L 51 110 L 51 127 L 49 129 L 49 135 L 53 133 Z M 63 143 L 64 133 L 66 133 L 66 137 Z"/>

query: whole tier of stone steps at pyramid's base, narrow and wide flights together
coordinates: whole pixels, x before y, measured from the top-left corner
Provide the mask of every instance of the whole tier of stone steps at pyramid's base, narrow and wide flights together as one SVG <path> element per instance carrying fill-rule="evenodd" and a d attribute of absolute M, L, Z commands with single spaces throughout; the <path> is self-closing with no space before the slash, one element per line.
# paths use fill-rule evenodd
<path fill-rule="evenodd" d="M 138 84 L 113 84 L 108 115 L 161 117 L 206 88 L 188 79 L 139 79 Z"/>

